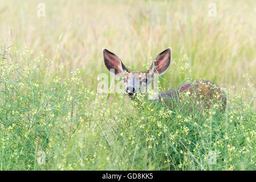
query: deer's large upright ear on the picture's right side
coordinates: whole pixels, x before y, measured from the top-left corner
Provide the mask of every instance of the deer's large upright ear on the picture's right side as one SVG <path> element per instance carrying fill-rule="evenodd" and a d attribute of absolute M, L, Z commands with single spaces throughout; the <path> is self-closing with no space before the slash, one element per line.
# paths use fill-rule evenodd
<path fill-rule="evenodd" d="M 151 67 L 148 69 L 148 73 L 157 74 L 158 76 L 164 74 L 170 65 L 171 56 L 172 48 L 169 47 L 162 51 L 153 60 Z"/>

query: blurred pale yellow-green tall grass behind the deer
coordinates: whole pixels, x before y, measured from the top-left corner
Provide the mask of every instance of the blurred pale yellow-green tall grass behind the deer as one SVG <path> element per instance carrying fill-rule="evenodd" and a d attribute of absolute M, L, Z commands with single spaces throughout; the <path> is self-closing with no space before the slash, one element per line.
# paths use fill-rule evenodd
<path fill-rule="evenodd" d="M 241 90 L 250 84 L 243 76 L 256 74 L 255 15 L 253 0 L 1 0 L 0 46 L 13 54 L 43 54 L 52 60 L 52 72 L 60 64 L 67 74 L 79 68 L 91 89 L 99 73 L 109 74 L 103 47 L 141 71 L 172 47 L 172 65 L 160 79 L 164 89 L 204 78 Z"/>

